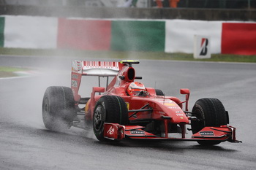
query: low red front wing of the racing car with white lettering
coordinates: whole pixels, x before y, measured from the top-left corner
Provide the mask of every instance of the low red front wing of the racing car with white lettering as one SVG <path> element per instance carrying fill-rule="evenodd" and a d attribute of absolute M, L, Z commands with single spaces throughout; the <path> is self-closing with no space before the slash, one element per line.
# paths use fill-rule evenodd
<path fill-rule="evenodd" d="M 105 123 L 104 136 L 107 139 L 121 140 L 125 137 L 129 139 L 165 139 L 179 141 L 219 141 L 219 142 L 240 142 L 236 140 L 236 128 L 230 125 L 220 127 L 205 127 L 201 131 L 193 134 L 191 138 L 175 138 L 171 134 L 168 136 L 156 136 L 143 130 L 140 125 L 119 125 L 118 123 Z"/>

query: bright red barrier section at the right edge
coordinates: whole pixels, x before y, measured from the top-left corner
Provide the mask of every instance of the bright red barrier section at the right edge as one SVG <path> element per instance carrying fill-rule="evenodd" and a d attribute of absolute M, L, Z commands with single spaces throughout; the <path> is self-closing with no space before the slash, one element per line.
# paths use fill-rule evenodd
<path fill-rule="evenodd" d="M 256 23 L 222 23 L 222 54 L 255 55 Z"/>

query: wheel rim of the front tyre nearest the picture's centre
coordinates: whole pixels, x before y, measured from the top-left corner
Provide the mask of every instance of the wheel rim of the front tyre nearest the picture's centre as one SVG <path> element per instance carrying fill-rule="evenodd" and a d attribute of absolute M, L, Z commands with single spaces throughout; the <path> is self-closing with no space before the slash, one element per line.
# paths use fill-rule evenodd
<path fill-rule="evenodd" d="M 105 112 L 102 106 L 98 106 L 97 109 L 95 109 L 94 112 L 94 128 L 96 131 L 99 131 L 102 129 L 102 126 L 105 123 Z"/>

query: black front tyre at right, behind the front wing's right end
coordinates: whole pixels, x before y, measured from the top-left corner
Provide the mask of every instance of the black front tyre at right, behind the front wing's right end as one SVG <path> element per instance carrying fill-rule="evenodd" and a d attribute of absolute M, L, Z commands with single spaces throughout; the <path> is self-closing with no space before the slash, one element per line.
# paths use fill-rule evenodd
<path fill-rule="evenodd" d="M 192 133 L 196 134 L 206 126 L 227 125 L 228 117 L 225 107 L 217 98 L 201 98 L 195 102 L 192 115 L 198 120 L 191 121 Z M 218 141 L 199 141 L 201 145 L 219 144 Z"/>

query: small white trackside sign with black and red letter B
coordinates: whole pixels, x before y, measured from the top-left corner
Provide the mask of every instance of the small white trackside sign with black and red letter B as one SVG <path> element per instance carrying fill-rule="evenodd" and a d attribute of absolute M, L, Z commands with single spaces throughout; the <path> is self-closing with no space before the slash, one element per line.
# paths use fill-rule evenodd
<path fill-rule="evenodd" d="M 211 41 L 209 36 L 194 36 L 194 58 L 211 58 Z"/>

